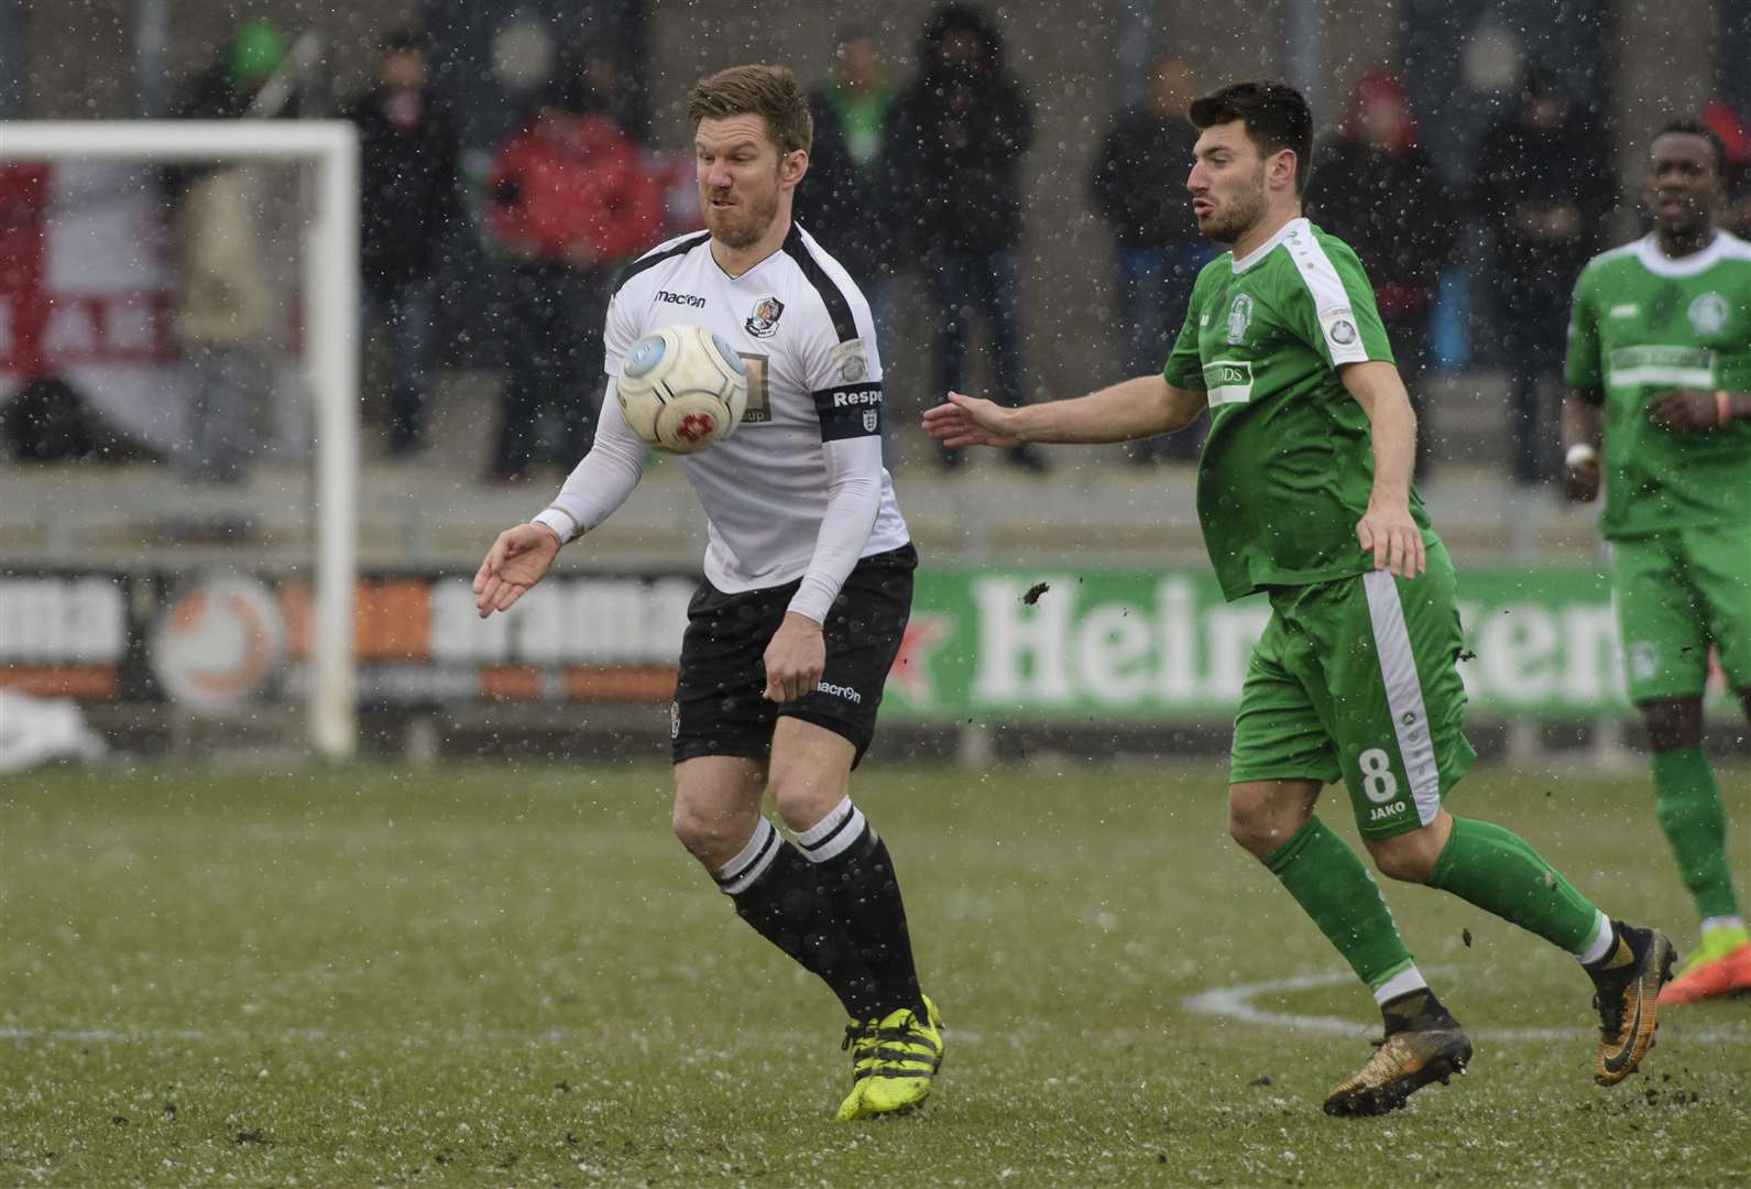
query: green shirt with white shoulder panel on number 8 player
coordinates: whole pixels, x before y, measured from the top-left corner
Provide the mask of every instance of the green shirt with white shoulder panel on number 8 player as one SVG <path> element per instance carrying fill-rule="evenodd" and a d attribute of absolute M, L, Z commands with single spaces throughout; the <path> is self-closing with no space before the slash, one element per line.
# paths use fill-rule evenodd
<path fill-rule="evenodd" d="M 1369 359 L 1392 362 L 1375 289 L 1355 252 L 1306 219 L 1198 273 L 1163 376 L 1210 398 L 1198 520 L 1227 599 L 1373 569 L 1355 541 L 1373 440 L 1338 378 Z M 1427 532 L 1415 490 L 1410 503 Z"/>

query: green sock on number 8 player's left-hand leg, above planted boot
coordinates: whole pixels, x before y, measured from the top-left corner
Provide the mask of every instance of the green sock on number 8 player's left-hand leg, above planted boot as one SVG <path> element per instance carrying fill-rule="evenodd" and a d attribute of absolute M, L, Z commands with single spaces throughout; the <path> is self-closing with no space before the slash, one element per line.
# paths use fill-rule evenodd
<path fill-rule="evenodd" d="M 1324 821 L 1308 818 L 1264 865 L 1371 989 L 1413 965 L 1375 877 Z"/>

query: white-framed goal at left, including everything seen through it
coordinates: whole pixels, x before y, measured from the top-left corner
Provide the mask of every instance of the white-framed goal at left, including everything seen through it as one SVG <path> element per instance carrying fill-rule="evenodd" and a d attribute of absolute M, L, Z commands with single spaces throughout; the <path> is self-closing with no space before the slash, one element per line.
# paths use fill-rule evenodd
<path fill-rule="evenodd" d="M 0 688 L 354 753 L 357 210 L 345 123 L 0 123 Z"/>

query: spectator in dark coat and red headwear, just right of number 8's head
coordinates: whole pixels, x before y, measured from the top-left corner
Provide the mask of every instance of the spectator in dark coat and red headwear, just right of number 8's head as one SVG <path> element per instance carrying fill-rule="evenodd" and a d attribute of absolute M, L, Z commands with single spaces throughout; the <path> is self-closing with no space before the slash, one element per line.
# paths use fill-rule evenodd
<path fill-rule="evenodd" d="M 1427 478 L 1434 443 L 1424 417 L 1429 315 L 1441 289 L 1441 270 L 1459 243 L 1460 210 L 1417 144 L 1410 96 L 1390 72 L 1362 75 L 1319 163 L 1313 221 L 1355 249 L 1375 285 L 1380 320 L 1422 422 L 1417 478 Z"/>

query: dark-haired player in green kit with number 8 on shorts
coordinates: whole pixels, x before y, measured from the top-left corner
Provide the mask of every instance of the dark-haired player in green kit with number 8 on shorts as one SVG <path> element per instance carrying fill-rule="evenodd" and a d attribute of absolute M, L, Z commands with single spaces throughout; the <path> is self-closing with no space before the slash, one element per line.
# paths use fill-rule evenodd
<path fill-rule="evenodd" d="M 1473 760 L 1453 564 L 1411 487 L 1417 420 L 1373 289 L 1301 215 L 1313 117 L 1292 88 L 1199 98 L 1187 177 L 1198 228 L 1229 247 L 1198 275 L 1161 375 L 1005 408 L 949 394 L 925 413 L 947 447 L 1124 441 L 1206 408 L 1198 518 L 1229 599 L 1264 594 L 1234 720 L 1227 821 L 1369 986 L 1385 1038 L 1326 1098 L 1382 1114 L 1471 1059 L 1368 869 L 1313 813 L 1343 783 L 1375 865 L 1455 893 L 1579 958 L 1599 998 L 1600 1084 L 1653 1042 L 1672 944 L 1613 921 L 1525 841 L 1450 814 Z M 1175 163 L 1163 163 L 1168 168 Z"/>

